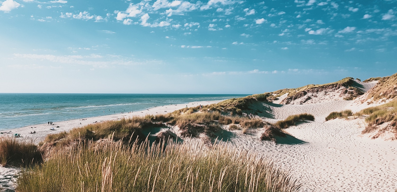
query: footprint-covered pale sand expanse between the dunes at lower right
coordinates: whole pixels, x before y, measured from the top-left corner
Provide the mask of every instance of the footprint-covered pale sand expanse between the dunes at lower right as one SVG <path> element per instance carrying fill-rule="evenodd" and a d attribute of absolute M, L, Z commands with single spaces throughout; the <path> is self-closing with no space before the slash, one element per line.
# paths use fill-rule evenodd
<path fill-rule="evenodd" d="M 301 178 L 302 192 L 395 192 L 397 143 L 361 137 L 362 119 L 306 122 L 287 128 L 297 139 L 275 145 L 261 131 L 229 138 L 232 145 L 270 155 Z M 285 144 L 288 143 L 288 144 Z M 295 143 L 295 144 L 294 144 Z"/>

